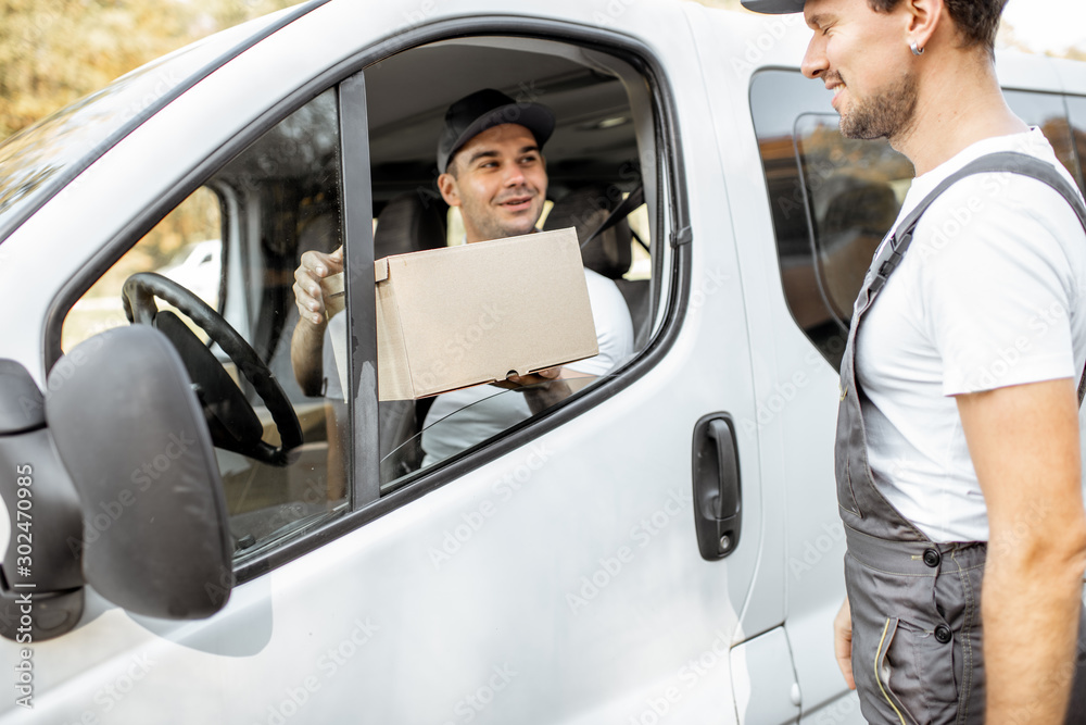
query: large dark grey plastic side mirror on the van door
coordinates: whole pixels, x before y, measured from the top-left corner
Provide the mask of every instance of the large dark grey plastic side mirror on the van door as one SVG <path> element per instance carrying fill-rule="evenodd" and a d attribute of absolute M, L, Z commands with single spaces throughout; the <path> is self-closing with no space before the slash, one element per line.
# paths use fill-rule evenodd
<path fill-rule="evenodd" d="M 137 614 L 190 620 L 220 610 L 233 586 L 226 501 L 207 426 L 176 350 L 144 325 L 112 329 L 59 360 L 47 387 L 43 428 L 8 437 L 0 430 L 5 463 L 5 449 L 17 450 L 24 437 L 51 438 L 51 447 L 38 450 L 55 450 L 53 461 L 59 457 L 62 464 L 55 468 L 66 472 L 78 499 L 78 515 L 62 525 L 35 523 L 35 550 L 66 550 L 80 563 L 83 582 Z M 20 405 L 3 396 L 0 389 L 0 411 Z M 25 390 L 20 397 L 27 398 Z M 4 472 L 0 483 L 8 478 Z M 14 545 L 20 493 L 13 483 L 2 493 Z M 63 488 L 43 476 L 35 486 L 42 492 Z M 35 520 L 39 512 L 54 513 L 46 497 L 34 505 Z M 17 550 L 10 546 L 3 562 L 9 587 L 20 580 L 13 555 Z M 41 593 L 37 587 L 36 605 Z"/>

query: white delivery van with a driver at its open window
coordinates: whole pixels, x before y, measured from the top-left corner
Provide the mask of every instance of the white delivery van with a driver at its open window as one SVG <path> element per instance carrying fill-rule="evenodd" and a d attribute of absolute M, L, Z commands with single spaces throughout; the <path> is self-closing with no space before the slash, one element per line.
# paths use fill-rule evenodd
<path fill-rule="evenodd" d="M 841 137 L 807 40 L 694 3 L 314 0 L 0 146 L 0 721 L 859 722 L 836 366 L 912 170 Z M 1086 68 L 998 68 L 1082 182 Z M 480 88 L 555 112 L 543 226 L 611 218 L 583 260 L 636 350 L 424 465 L 369 275 L 462 237 L 434 154 Z M 172 280 L 193 242 L 215 263 Z M 293 270 L 340 245 L 305 395 Z"/>

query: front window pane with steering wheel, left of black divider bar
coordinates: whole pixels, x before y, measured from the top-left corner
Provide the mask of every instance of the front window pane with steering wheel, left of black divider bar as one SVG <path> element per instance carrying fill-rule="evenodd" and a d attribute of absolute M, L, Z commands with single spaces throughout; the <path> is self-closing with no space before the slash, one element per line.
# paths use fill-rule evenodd
<path fill-rule="evenodd" d="M 144 273 L 136 279 L 166 285 L 169 295 L 177 295 L 172 285 L 191 292 L 175 304 L 156 292 L 147 321 L 180 352 L 203 408 L 239 561 L 349 504 L 346 396 L 302 395 L 290 359 L 298 260 L 307 249 L 330 251 L 342 243 L 336 92 L 310 101 L 206 179 L 65 318 L 62 345 L 70 349 L 102 328 L 129 324 L 122 289 L 134 275 Z M 189 314 L 199 314 L 201 301 L 219 313 L 207 328 Z M 330 338 L 346 339 L 345 316 L 329 325 Z M 223 338 L 210 329 L 224 326 L 244 339 L 253 359 L 228 355 L 214 343 Z M 328 347 L 345 348 L 340 340 Z M 280 392 L 268 395 L 268 388 Z M 280 446 L 282 454 L 274 454 Z"/>

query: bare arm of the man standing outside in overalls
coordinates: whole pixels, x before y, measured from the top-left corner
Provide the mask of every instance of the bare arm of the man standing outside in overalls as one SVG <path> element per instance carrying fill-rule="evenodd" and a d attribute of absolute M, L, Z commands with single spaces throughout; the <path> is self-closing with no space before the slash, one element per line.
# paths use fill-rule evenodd
<path fill-rule="evenodd" d="M 957 397 L 988 510 L 988 723 L 1065 716 L 1086 568 L 1075 393 L 1059 379 Z"/>

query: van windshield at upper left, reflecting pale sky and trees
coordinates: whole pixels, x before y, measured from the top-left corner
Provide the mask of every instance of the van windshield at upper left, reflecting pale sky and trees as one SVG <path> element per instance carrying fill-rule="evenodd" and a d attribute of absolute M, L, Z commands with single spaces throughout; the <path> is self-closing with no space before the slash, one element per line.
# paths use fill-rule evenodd
<path fill-rule="evenodd" d="M 285 13 L 224 30 L 117 78 L 0 143 L 0 243 L 201 68 L 262 37 Z"/>

